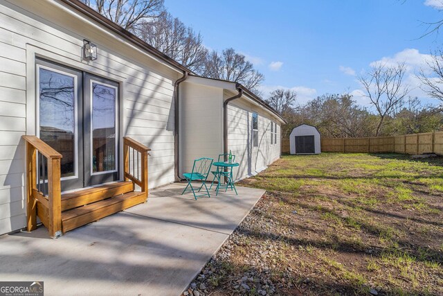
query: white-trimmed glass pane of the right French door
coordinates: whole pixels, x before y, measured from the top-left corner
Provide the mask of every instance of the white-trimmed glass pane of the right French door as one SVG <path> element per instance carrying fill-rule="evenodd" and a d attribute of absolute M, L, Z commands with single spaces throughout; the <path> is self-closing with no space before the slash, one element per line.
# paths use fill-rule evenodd
<path fill-rule="evenodd" d="M 116 171 L 116 87 L 92 81 L 92 174 Z"/>

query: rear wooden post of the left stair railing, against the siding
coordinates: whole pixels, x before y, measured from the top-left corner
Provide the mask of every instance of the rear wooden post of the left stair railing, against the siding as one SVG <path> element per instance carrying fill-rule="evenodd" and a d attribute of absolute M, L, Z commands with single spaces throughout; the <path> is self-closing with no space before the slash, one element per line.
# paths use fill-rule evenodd
<path fill-rule="evenodd" d="M 26 142 L 26 227 L 28 232 L 37 228 L 37 201 L 33 189 L 37 188 L 37 151 Z"/>

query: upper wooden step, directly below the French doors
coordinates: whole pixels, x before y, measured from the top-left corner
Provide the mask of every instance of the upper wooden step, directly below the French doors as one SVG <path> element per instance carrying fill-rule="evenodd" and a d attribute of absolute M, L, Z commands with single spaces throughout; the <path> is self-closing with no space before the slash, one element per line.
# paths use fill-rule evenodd
<path fill-rule="evenodd" d="M 112 196 L 120 195 L 134 190 L 134 184 L 130 181 L 115 182 L 102 186 L 83 189 L 62 194 L 62 211 L 81 207 L 99 200 L 105 200 Z"/>

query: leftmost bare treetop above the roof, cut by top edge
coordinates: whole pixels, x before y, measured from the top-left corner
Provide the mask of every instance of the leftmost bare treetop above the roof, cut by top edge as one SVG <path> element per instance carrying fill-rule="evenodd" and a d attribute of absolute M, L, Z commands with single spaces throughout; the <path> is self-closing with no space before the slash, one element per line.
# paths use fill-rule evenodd
<path fill-rule="evenodd" d="M 136 32 L 143 20 L 159 17 L 164 0 L 80 0 L 128 31 Z"/>

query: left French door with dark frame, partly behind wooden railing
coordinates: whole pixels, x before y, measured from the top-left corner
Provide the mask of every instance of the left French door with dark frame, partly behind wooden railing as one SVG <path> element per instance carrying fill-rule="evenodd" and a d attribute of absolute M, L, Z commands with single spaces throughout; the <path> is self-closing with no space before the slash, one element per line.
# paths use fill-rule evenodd
<path fill-rule="evenodd" d="M 62 190 L 83 186 L 82 72 L 36 60 L 37 137 L 62 154 Z M 39 173 L 46 166 L 37 160 Z"/>

